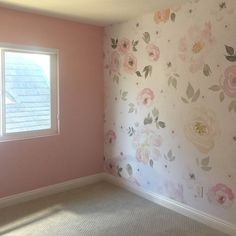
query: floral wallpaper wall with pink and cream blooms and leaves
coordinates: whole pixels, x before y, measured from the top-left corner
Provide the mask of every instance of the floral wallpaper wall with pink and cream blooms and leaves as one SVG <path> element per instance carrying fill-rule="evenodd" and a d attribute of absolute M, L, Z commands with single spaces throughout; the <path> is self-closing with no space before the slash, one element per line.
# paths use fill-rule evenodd
<path fill-rule="evenodd" d="M 105 30 L 105 171 L 236 224 L 236 1 Z"/>

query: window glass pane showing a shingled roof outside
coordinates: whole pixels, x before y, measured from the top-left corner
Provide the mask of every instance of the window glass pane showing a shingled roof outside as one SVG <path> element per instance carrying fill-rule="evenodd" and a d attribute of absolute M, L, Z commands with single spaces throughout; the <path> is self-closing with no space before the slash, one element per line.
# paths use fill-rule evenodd
<path fill-rule="evenodd" d="M 6 133 L 51 128 L 50 56 L 5 52 Z"/>

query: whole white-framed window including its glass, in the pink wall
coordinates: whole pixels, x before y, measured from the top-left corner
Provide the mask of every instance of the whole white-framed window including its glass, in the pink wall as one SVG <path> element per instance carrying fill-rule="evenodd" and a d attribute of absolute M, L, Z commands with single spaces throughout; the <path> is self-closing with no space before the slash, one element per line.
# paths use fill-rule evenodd
<path fill-rule="evenodd" d="M 0 44 L 0 141 L 58 133 L 57 50 Z"/>

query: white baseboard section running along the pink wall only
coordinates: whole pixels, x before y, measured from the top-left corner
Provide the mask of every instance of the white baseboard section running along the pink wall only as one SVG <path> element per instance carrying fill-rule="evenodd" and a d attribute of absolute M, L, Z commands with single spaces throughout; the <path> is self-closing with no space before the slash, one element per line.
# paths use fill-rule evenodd
<path fill-rule="evenodd" d="M 62 183 L 49 185 L 24 193 L 14 194 L 9 197 L 0 198 L 0 208 L 27 202 L 36 198 L 48 196 L 54 193 L 64 192 L 70 189 L 83 187 L 104 180 L 104 174 L 95 174 L 77 179 L 68 180 Z"/>

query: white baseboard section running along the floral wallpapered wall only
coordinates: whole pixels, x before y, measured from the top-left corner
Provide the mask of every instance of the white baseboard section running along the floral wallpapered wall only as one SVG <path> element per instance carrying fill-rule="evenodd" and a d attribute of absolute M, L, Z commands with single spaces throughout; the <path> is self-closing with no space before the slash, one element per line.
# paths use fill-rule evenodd
<path fill-rule="evenodd" d="M 206 224 L 207 226 L 209 226 L 211 228 L 217 229 L 221 232 L 224 232 L 226 234 L 230 234 L 232 236 L 236 235 L 236 225 L 234 225 L 232 223 L 226 222 L 224 220 L 221 220 L 220 218 L 206 214 L 202 211 L 196 210 L 192 207 L 189 207 L 185 204 L 176 202 L 176 201 L 171 200 L 167 197 L 158 195 L 153 192 L 147 192 L 143 188 L 138 187 L 138 186 L 134 186 L 133 184 L 127 182 L 124 179 L 114 177 L 109 174 L 104 174 L 104 179 L 111 184 L 122 187 L 132 193 L 135 193 L 136 195 L 139 195 L 140 197 L 143 197 L 143 198 L 150 200 L 154 203 L 157 203 L 157 204 L 162 205 L 166 208 L 169 208 L 177 213 L 185 215 L 185 216 L 187 216 L 191 219 L 194 219 L 198 222 Z"/>

